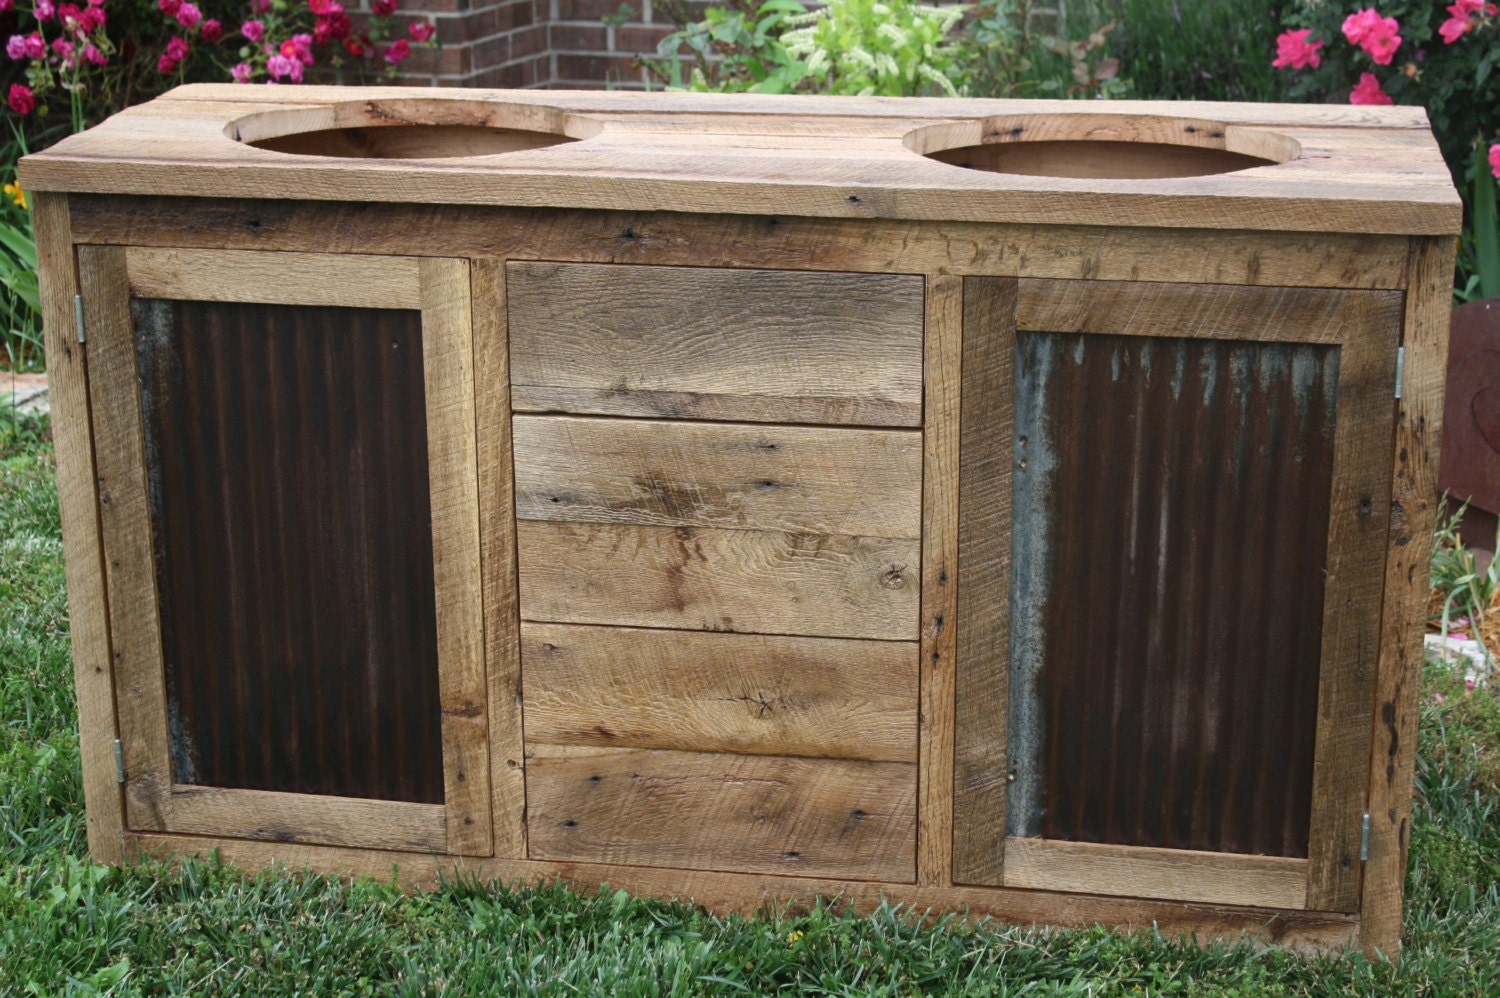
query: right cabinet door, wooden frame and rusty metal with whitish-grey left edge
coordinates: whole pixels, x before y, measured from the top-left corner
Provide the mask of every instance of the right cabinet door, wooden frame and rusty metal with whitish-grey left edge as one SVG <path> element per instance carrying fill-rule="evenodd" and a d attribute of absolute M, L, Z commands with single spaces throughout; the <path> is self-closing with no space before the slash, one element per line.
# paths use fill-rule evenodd
<path fill-rule="evenodd" d="M 964 297 L 956 881 L 1356 909 L 1401 294 Z"/>

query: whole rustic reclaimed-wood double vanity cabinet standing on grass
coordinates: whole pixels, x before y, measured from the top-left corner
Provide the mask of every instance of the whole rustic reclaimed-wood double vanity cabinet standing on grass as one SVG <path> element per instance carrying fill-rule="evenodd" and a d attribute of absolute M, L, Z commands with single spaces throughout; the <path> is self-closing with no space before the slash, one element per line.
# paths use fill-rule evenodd
<path fill-rule="evenodd" d="M 22 182 L 99 860 L 1396 945 L 1420 111 L 198 86 Z"/>

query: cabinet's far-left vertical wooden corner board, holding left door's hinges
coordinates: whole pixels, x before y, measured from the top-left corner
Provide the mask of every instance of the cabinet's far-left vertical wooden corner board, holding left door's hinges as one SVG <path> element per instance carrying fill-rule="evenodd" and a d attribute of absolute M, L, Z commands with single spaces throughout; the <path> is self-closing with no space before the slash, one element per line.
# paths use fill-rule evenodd
<path fill-rule="evenodd" d="M 99 495 L 94 491 L 93 429 L 88 413 L 88 365 L 78 344 L 74 296 L 78 272 L 66 195 L 36 194 L 36 233 L 46 339 L 46 387 L 52 407 L 52 453 L 57 503 L 63 521 L 63 570 L 68 581 L 68 630 L 72 639 L 74 689 L 78 696 L 78 749 L 82 758 L 88 854 L 96 863 L 124 858 L 124 810 L 114 773 L 114 669 L 104 588 Z"/>

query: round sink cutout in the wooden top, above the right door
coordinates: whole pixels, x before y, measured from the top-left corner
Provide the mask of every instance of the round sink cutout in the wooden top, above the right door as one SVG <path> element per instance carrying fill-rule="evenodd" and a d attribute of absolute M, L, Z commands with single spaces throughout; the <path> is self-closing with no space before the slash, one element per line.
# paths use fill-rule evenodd
<path fill-rule="evenodd" d="M 978 125 L 928 126 L 908 135 L 906 144 L 968 170 L 1086 180 L 1204 177 L 1272 167 L 1300 153 L 1282 135 L 1184 119 L 1058 114 Z"/>

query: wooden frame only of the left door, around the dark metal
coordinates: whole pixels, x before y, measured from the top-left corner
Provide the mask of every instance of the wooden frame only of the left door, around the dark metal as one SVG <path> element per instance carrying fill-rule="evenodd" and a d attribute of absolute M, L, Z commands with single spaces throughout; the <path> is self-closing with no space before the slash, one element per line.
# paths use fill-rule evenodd
<path fill-rule="evenodd" d="M 126 828 L 490 855 L 470 263 L 80 246 L 78 267 L 86 288 Z M 132 297 L 420 309 L 444 803 L 174 782 Z"/>

